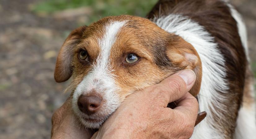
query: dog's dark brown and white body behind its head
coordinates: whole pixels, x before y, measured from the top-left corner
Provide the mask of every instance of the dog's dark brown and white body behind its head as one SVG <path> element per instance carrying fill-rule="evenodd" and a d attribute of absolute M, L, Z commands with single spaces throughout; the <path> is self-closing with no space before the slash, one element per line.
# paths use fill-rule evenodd
<path fill-rule="evenodd" d="M 254 137 L 253 76 L 246 59 L 246 28 L 239 13 L 227 1 L 176 2 L 160 1 L 149 18 L 182 36 L 201 58 L 198 100 L 200 111 L 208 116 L 195 128 L 192 138 L 232 138 L 235 128 L 235 138 Z"/>

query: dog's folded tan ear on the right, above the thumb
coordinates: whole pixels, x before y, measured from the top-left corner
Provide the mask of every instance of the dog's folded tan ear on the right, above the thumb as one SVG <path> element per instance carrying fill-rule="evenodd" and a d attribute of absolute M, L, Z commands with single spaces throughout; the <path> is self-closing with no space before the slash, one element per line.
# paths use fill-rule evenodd
<path fill-rule="evenodd" d="M 185 69 L 193 70 L 196 74 L 194 86 L 189 91 L 196 96 L 201 87 L 202 80 L 202 63 L 195 48 L 182 39 L 180 36 L 172 36 L 168 42 L 167 56 L 173 65 L 178 67 L 186 67 Z"/>

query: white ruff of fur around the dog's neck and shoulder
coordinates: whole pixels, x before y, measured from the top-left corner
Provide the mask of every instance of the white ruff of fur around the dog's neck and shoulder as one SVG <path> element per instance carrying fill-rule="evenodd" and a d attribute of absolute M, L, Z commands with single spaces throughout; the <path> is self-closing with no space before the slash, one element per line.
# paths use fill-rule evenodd
<path fill-rule="evenodd" d="M 159 27 L 163 28 L 167 32 L 177 34 L 184 40 L 194 46 L 202 61 L 202 83 L 200 93 L 198 95 L 199 110 L 206 111 L 206 118 L 195 127 L 194 133 L 191 138 L 193 139 L 223 139 L 224 136 L 218 133 L 212 124 L 212 112 L 221 116 L 218 110 L 225 110 L 228 108 L 222 103 L 227 98 L 220 95 L 217 91 L 226 92 L 228 89 L 226 76 L 226 70 L 219 65 L 224 65 L 224 57 L 217 48 L 217 44 L 214 43 L 213 37 L 200 26 L 198 23 L 182 15 L 168 15 L 161 17 L 154 21 Z M 218 64 L 216 64 L 218 63 Z M 214 107 L 213 107 L 214 106 Z"/>

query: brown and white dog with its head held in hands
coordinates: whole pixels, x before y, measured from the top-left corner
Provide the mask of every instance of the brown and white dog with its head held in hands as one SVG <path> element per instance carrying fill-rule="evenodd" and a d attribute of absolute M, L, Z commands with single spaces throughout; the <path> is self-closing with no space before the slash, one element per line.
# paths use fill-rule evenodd
<path fill-rule="evenodd" d="M 56 82 L 73 75 L 72 105 L 86 128 L 99 126 L 124 98 L 191 69 L 199 111 L 195 139 L 256 135 L 246 28 L 227 0 L 160 0 L 147 19 L 110 16 L 75 29 L 56 62 Z"/>

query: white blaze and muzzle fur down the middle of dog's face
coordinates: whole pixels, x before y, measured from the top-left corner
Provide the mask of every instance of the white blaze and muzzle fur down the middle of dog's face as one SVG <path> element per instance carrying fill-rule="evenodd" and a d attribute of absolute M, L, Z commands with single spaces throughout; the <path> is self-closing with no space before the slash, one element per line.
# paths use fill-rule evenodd
<path fill-rule="evenodd" d="M 120 105 L 119 96 L 115 93 L 115 91 L 119 90 L 119 87 L 115 84 L 114 75 L 111 74 L 110 50 L 115 43 L 116 34 L 124 24 L 124 21 L 111 22 L 105 26 L 106 32 L 103 38 L 98 41 L 100 54 L 96 59 L 96 64 L 92 65 L 92 70 L 84 77 L 83 81 L 79 83 L 74 91 L 72 100 L 74 112 L 79 116 L 80 121 L 88 128 L 99 128 L 108 116 Z M 79 110 L 77 100 L 81 94 L 86 95 L 92 90 L 95 90 L 101 95 L 104 100 L 102 102 L 105 103 L 103 104 L 103 109 L 88 116 Z M 99 120 L 99 122 L 90 122 L 83 118 L 96 119 Z"/>

